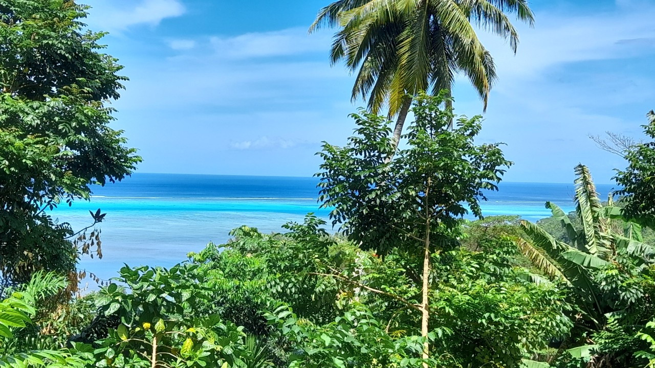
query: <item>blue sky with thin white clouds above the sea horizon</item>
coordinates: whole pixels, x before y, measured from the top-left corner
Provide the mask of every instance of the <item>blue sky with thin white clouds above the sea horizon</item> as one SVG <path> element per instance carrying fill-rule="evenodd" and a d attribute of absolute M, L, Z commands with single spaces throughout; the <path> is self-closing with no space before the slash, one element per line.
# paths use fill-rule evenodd
<path fill-rule="evenodd" d="M 144 162 L 140 172 L 310 176 L 321 141 L 341 144 L 352 76 L 327 60 L 331 31 L 307 35 L 328 1 L 88 0 L 109 31 L 127 90 L 113 105 Z M 503 141 L 508 181 L 571 182 L 587 164 L 599 183 L 625 163 L 589 134 L 641 137 L 655 108 L 655 0 L 534 0 L 517 24 L 517 55 L 480 33 L 495 56 L 480 142 Z M 466 80 L 455 109 L 481 113 Z"/>

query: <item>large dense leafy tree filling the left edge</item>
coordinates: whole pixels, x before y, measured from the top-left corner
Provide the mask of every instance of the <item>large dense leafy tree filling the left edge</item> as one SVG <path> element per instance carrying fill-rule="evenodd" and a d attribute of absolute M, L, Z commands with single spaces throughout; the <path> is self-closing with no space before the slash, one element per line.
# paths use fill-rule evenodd
<path fill-rule="evenodd" d="M 126 78 L 117 74 L 117 60 L 100 52 L 105 33 L 84 31 L 86 9 L 74 1 L 0 0 L 5 285 L 25 282 L 35 270 L 75 270 L 79 251 L 100 246 L 98 233 L 87 238 L 48 210 L 88 199 L 91 184 L 120 181 L 141 160 L 109 127 L 114 109 L 107 104 L 119 98 Z M 92 215 L 93 224 L 102 221 L 100 211 Z"/>

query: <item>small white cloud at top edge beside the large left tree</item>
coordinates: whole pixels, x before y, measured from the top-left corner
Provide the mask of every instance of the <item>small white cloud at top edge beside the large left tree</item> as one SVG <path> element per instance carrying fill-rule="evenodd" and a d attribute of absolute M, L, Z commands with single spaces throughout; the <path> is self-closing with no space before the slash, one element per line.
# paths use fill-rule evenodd
<path fill-rule="evenodd" d="M 92 28 L 120 32 L 140 24 L 157 26 L 184 12 L 180 0 L 98 0 L 90 10 L 88 23 Z"/>

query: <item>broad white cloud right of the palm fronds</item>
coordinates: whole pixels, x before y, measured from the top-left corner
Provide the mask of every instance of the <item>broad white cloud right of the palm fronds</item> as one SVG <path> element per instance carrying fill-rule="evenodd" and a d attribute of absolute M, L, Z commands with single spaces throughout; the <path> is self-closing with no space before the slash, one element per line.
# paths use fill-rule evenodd
<path fill-rule="evenodd" d="M 538 13 L 533 29 L 519 26 L 514 55 L 501 39 L 481 33 L 494 56 L 501 81 L 536 79 L 575 62 L 625 59 L 655 51 L 655 7 L 624 7 L 605 13 L 563 16 Z"/>

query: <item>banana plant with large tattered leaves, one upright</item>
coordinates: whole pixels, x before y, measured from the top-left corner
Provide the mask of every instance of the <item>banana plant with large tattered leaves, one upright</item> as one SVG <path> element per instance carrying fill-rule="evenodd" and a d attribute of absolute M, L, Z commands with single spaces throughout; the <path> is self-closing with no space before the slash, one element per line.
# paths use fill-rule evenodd
<path fill-rule="evenodd" d="M 588 318 L 596 328 L 601 328 L 607 308 L 593 280 L 593 272 L 615 263 L 619 254 L 645 267 L 652 263 L 655 248 L 642 242 L 639 223 L 623 217 L 621 208 L 614 205 L 611 197 L 603 206 L 586 166 L 576 166 L 575 172 L 576 214 L 580 225 L 574 226 L 559 206 L 546 202 L 546 208 L 565 229 L 569 243 L 557 240 L 538 225 L 524 220 L 521 228 L 525 236 L 517 244 L 536 268 L 552 280 L 569 284 L 583 302 L 580 306 Z M 617 225 L 621 225 L 619 231 Z"/>

